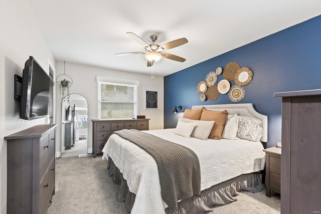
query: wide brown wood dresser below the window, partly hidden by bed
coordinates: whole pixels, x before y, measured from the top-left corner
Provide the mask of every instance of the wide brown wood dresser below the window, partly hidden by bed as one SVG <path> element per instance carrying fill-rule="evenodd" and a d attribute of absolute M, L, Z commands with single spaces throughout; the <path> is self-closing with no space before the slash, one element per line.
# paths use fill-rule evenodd
<path fill-rule="evenodd" d="M 102 153 L 102 148 L 114 131 L 121 129 L 149 130 L 149 119 L 93 119 L 91 121 L 94 157 Z"/>

